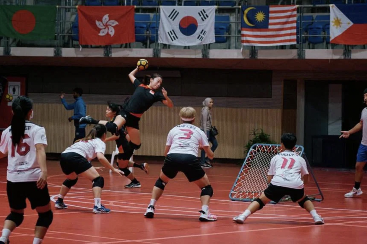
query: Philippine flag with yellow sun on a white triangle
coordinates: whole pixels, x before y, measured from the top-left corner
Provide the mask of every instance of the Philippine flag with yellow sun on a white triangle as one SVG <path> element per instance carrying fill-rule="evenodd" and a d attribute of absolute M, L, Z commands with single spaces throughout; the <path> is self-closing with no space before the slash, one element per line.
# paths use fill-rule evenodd
<path fill-rule="evenodd" d="M 367 5 L 330 5 L 330 42 L 346 45 L 367 44 Z"/>

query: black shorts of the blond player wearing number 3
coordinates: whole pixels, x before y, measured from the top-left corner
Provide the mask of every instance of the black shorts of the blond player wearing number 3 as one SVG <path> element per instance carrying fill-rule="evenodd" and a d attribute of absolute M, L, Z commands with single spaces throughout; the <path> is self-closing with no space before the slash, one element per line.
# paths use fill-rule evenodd
<path fill-rule="evenodd" d="M 164 159 L 162 172 L 170 179 L 181 171 L 192 182 L 204 177 L 205 172 L 196 156 L 191 154 L 170 153 Z"/>

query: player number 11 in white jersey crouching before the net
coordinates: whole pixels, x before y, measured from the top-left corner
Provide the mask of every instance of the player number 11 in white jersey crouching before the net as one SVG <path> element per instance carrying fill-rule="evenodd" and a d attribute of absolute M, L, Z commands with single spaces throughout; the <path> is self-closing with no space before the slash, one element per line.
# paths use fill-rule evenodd
<path fill-rule="evenodd" d="M 317 214 L 313 203 L 305 195 L 304 183 L 308 182 L 309 174 L 305 159 L 292 152 L 296 141 L 297 138 L 291 133 L 281 136 L 281 153 L 275 155 L 270 161 L 268 173 L 270 185 L 242 214 L 234 217 L 233 221 L 243 224 L 250 214 L 262 209 L 266 203 L 270 201 L 277 203 L 285 195 L 289 195 L 293 202 L 297 202 L 312 215 L 316 225 L 324 224 L 324 220 Z"/>

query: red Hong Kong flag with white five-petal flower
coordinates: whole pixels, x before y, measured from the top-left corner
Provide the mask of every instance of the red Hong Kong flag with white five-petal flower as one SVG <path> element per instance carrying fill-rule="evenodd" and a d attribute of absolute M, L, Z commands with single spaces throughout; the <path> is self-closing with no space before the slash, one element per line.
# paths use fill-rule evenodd
<path fill-rule="evenodd" d="M 135 42 L 134 6 L 78 6 L 79 43 L 112 45 Z"/>

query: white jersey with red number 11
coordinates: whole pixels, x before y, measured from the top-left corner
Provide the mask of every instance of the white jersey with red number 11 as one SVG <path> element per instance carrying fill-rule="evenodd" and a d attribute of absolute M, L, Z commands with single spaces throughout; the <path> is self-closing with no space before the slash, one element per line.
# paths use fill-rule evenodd
<path fill-rule="evenodd" d="M 304 184 L 301 177 L 305 174 L 308 174 L 306 161 L 297 153 L 284 151 L 270 161 L 268 175 L 273 175 L 273 185 L 302 189 Z"/>

